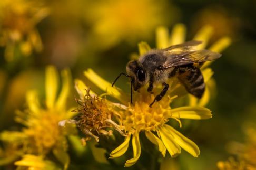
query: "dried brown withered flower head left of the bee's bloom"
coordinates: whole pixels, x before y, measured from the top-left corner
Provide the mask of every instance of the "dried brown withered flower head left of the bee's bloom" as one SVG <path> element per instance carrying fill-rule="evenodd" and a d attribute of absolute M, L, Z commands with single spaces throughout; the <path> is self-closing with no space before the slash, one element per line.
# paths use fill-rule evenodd
<path fill-rule="evenodd" d="M 85 95 L 81 99 L 76 99 L 80 107 L 74 110 L 79 113 L 75 117 L 77 127 L 87 135 L 82 142 L 90 140 L 91 137 L 99 142 L 99 135 L 112 135 L 112 127 L 123 134 L 122 128 L 112 120 L 116 114 L 110 108 L 110 103 L 105 98 L 91 95 L 90 89 L 84 89 L 84 91 Z M 78 93 L 81 91 L 78 90 Z"/>

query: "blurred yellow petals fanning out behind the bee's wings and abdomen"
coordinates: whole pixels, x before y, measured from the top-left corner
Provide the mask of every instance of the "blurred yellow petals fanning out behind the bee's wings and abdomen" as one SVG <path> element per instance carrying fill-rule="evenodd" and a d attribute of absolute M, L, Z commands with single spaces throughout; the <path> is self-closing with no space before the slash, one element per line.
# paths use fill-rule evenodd
<path fill-rule="evenodd" d="M 200 44 L 196 48 L 204 49 L 208 45 L 208 41 L 210 40 L 213 34 L 213 31 L 214 31 L 213 27 L 209 25 L 205 25 L 204 27 L 202 27 L 193 38 L 194 40 L 202 41 L 202 44 Z M 186 27 L 183 24 L 176 24 L 173 27 L 170 35 L 166 27 L 158 27 L 156 29 L 156 48 L 157 49 L 166 48 L 175 44 L 180 44 L 185 40 L 186 40 Z M 214 42 L 214 44 L 209 47 L 209 50 L 215 51 L 215 52 L 222 52 L 230 44 L 231 44 L 230 37 L 224 36 L 224 37 L 221 37 L 216 42 Z M 205 82 L 205 92 L 203 94 L 203 97 L 199 100 L 198 98 L 189 94 L 190 105 L 199 105 L 203 107 L 209 102 L 211 95 L 214 93 L 215 81 L 212 78 L 213 71 L 211 68 L 208 68 L 208 66 L 211 63 L 212 61 L 206 62 L 201 67 L 201 71 L 202 71 L 204 82 Z M 180 87 L 180 88 L 183 88 L 183 87 Z"/>

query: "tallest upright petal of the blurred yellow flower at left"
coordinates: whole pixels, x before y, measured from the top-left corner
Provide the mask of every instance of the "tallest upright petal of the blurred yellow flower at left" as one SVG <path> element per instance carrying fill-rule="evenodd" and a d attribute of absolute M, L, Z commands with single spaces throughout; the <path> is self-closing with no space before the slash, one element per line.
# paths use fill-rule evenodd
<path fill-rule="evenodd" d="M 53 108 L 58 90 L 57 69 L 54 66 L 46 67 L 45 76 L 46 106 Z"/>

